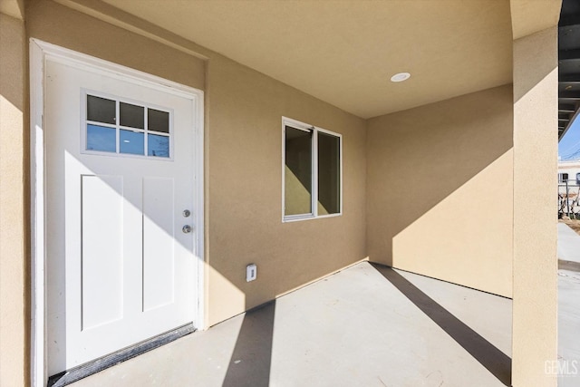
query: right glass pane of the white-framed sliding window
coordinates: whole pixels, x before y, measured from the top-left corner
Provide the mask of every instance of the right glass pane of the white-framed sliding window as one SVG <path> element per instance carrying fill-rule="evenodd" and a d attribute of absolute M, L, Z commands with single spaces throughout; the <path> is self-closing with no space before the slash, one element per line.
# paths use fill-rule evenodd
<path fill-rule="evenodd" d="M 318 214 L 341 211 L 340 138 L 318 132 Z"/>

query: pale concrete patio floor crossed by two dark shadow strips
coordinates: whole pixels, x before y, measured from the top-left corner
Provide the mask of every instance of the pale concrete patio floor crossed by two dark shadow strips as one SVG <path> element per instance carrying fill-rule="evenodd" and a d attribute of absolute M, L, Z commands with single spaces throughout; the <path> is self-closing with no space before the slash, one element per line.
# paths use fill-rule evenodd
<path fill-rule="evenodd" d="M 72 385 L 508 385 L 511 309 L 362 262 Z"/>

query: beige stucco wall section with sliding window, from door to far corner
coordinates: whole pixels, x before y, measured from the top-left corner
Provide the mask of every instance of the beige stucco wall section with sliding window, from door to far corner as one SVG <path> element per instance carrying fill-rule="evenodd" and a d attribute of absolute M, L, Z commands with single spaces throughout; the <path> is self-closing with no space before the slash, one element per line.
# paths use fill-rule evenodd
<path fill-rule="evenodd" d="M 207 107 L 216 324 L 365 256 L 365 121 L 219 55 L 209 59 Z M 342 217 L 282 223 L 282 116 L 343 135 Z"/>

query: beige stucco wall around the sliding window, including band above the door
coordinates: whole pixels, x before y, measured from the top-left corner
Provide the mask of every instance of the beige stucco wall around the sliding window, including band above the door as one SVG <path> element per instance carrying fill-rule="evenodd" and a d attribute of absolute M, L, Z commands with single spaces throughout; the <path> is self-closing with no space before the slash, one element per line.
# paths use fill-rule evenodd
<path fill-rule="evenodd" d="M 365 121 L 206 49 L 203 61 L 45 0 L 26 15 L 30 37 L 205 90 L 208 325 L 365 257 Z M 342 217 L 282 223 L 282 116 L 343 134 Z"/>

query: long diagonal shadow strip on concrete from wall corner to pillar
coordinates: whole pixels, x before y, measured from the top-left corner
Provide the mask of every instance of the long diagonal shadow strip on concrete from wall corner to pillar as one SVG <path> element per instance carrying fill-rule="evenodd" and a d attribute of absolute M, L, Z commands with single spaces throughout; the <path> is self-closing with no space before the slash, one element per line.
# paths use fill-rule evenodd
<path fill-rule="evenodd" d="M 459 318 L 450 314 L 447 309 L 436 303 L 429 295 L 412 285 L 407 279 L 389 266 L 371 264 L 392 285 L 440 326 L 453 340 L 461 345 L 481 365 L 498 378 L 504 385 L 511 383 L 511 359 L 480 334 L 462 323 Z"/>

